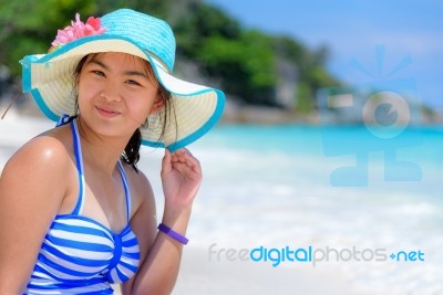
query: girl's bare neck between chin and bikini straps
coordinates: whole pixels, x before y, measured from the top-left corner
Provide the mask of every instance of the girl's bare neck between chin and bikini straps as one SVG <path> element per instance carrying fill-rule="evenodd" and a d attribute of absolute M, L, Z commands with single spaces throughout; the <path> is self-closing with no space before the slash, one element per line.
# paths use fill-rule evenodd
<path fill-rule="evenodd" d="M 83 160 L 96 169 L 112 175 L 130 138 L 99 135 L 81 118 L 78 118 L 78 126 Z"/>

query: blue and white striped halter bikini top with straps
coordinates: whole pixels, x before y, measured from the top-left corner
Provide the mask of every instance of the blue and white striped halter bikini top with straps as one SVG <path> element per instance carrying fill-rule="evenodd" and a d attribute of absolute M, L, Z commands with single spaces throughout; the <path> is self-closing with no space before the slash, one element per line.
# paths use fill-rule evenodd
<path fill-rule="evenodd" d="M 55 215 L 40 249 L 25 294 L 113 294 L 110 284 L 124 283 L 140 263 L 138 241 L 130 226 L 131 193 L 122 164 L 127 225 L 114 233 L 82 215 L 85 199 L 82 150 L 75 120 L 71 122 L 80 179 L 78 203 L 71 214 Z"/>

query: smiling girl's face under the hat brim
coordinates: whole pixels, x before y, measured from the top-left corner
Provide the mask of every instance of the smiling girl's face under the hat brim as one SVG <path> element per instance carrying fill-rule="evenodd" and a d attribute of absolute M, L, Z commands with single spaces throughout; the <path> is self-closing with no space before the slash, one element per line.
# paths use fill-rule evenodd
<path fill-rule="evenodd" d="M 78 77 L 81 117 L 103 136 L 131 137 L 162 107 L 148 63 L 126 53 L 89 56 Z"/>

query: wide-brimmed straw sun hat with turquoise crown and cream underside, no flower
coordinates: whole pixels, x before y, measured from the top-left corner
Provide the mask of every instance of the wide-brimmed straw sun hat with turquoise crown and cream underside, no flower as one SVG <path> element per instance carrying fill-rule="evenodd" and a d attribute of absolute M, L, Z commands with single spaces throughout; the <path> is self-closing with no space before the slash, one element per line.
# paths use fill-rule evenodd
<path fill-rule="evenodd" d="M 100 30 L 58 44 L 48 54 L 27 55 L 21 61 L 23 92 L 31 93 L 47 117 L 58 122 L 65 114 L 75 114 L 74 70 L 83 56 L 100 52 L 123 52 L 148 61 L 158 82 L 171 93 L 175 116 L 168 116 L 162 139 L 159 118 L 164 109 L 150 116 L 148 127 L 140 128 L 143 145 L 176 150 L 202 137 L 222 117 L 222 91 L 172 75 L 175 38 L 165 21 L 120 9 L 101 18 Z"/>

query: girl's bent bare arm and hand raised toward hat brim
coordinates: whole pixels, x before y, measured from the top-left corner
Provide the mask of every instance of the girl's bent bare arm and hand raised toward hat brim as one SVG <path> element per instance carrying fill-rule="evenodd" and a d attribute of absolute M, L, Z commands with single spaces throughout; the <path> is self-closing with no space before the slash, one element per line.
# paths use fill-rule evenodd
<path fill-rule="evenodd" d="M 194 198 L 202 181 L 197 159 L 186 149 L 171 155 L 166 151 L 162 164 L 162 182 L 165 209 L 162 222 L 185 234 Z M 143 213 L 143 211 L 141 211 Z M 136 217 L 137 219 L 140 217 Z M 144 218 L 140 218 L 142 221 Z M 138 222 L 136 221 L 136 222 Z M 156 221 L 145 220 L 144 235 L 148 241 L 145 259 L 130 284 L 123 285 L 124 294 L 171 294 L 178 276 L 183 245 L 164 233 L 156 233 Z M 148 225 L 146 225 L 148 224 Z M 134 224 L 142 226 L 142 224 Z M 146 236 L 146 228 L 151 236 Z M 155 234 L 156 233 L 156 234 Z"/>

